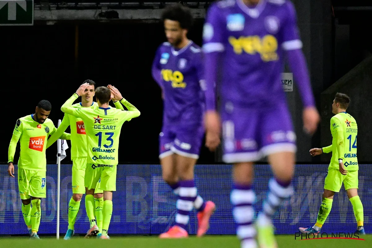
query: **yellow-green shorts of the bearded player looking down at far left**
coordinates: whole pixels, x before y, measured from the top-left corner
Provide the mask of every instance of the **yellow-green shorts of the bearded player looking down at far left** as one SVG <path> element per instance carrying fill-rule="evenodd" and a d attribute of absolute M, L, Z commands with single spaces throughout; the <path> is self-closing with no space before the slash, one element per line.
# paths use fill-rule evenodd
<path fill-rule="evenodd" d="M 46 171 L 27 170 L 18 167 L 18 189 L 22 200 L 47 197 Z"/>

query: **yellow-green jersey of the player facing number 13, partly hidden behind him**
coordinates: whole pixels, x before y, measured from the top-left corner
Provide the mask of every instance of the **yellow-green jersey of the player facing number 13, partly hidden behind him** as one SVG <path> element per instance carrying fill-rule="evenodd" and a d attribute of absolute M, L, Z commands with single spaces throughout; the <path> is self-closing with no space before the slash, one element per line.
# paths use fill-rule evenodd
<path fill-rule="evenodd" d="M 116 108 L 124 109 L 119 101 L 115 102 L 114 104 Z M 85 108 L 81 103 L 73 104 L 71 107 L 75 109 Z M 93 102 L 91 106 L 86 108 L 98 108 L 98 104 Z M 65 113 L 57 131 L 50 136 L 47 148 L 57 141 L 57 139 L 59 139 L 61 134 L 67 129 L 68 126 L 70 126 L 71 129 L 71 160 L 74 160 L 74 158 L 77 157 L 87 157 L 87 138 L 85 134 L 84 121 L 79 117 L 75 117 L 67 113 Z"/>

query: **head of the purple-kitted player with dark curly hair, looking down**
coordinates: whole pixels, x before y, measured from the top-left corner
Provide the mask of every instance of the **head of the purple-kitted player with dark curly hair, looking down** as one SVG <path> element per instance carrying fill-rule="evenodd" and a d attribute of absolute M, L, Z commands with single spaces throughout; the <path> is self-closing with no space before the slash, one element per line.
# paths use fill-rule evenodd
<path fill-rule="evenodd" d="M 179 45 L 186 39 L 187 32 L 192 26 L 192 15 L 188 7 L 182 4 L 170 4 L 161 16 L 168 42 L 173 46 Z"/>

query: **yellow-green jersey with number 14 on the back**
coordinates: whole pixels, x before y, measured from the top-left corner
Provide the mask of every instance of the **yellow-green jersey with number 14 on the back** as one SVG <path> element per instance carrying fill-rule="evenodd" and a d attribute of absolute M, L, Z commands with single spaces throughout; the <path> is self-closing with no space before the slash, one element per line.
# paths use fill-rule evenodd
<path fill-rule="evenodd" d="M 332 145 L 323 147 L 324 153 L 332 152 L 329 167 L 339 169 L 339 159 L 348 171 L 359 169 L 356 155 L 358 125 L 353 116 L 346 112 L 338 113 L 331 118 Z"/>

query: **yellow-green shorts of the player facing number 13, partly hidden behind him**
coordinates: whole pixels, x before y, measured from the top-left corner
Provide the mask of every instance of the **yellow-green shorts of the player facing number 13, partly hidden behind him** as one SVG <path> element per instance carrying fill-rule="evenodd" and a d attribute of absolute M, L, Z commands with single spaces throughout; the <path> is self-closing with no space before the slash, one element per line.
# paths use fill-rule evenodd
<path fill-rule="evenodd" d="M 73 194 L 85 194 L 84 177 L 85 170 L 87 168 L 87 158 L 77 157 L 73 158 L 72 164 L 72 193 Z M 100 189 L 100 181 L 94 185 L 94 194 L 103 193 Z"/>

